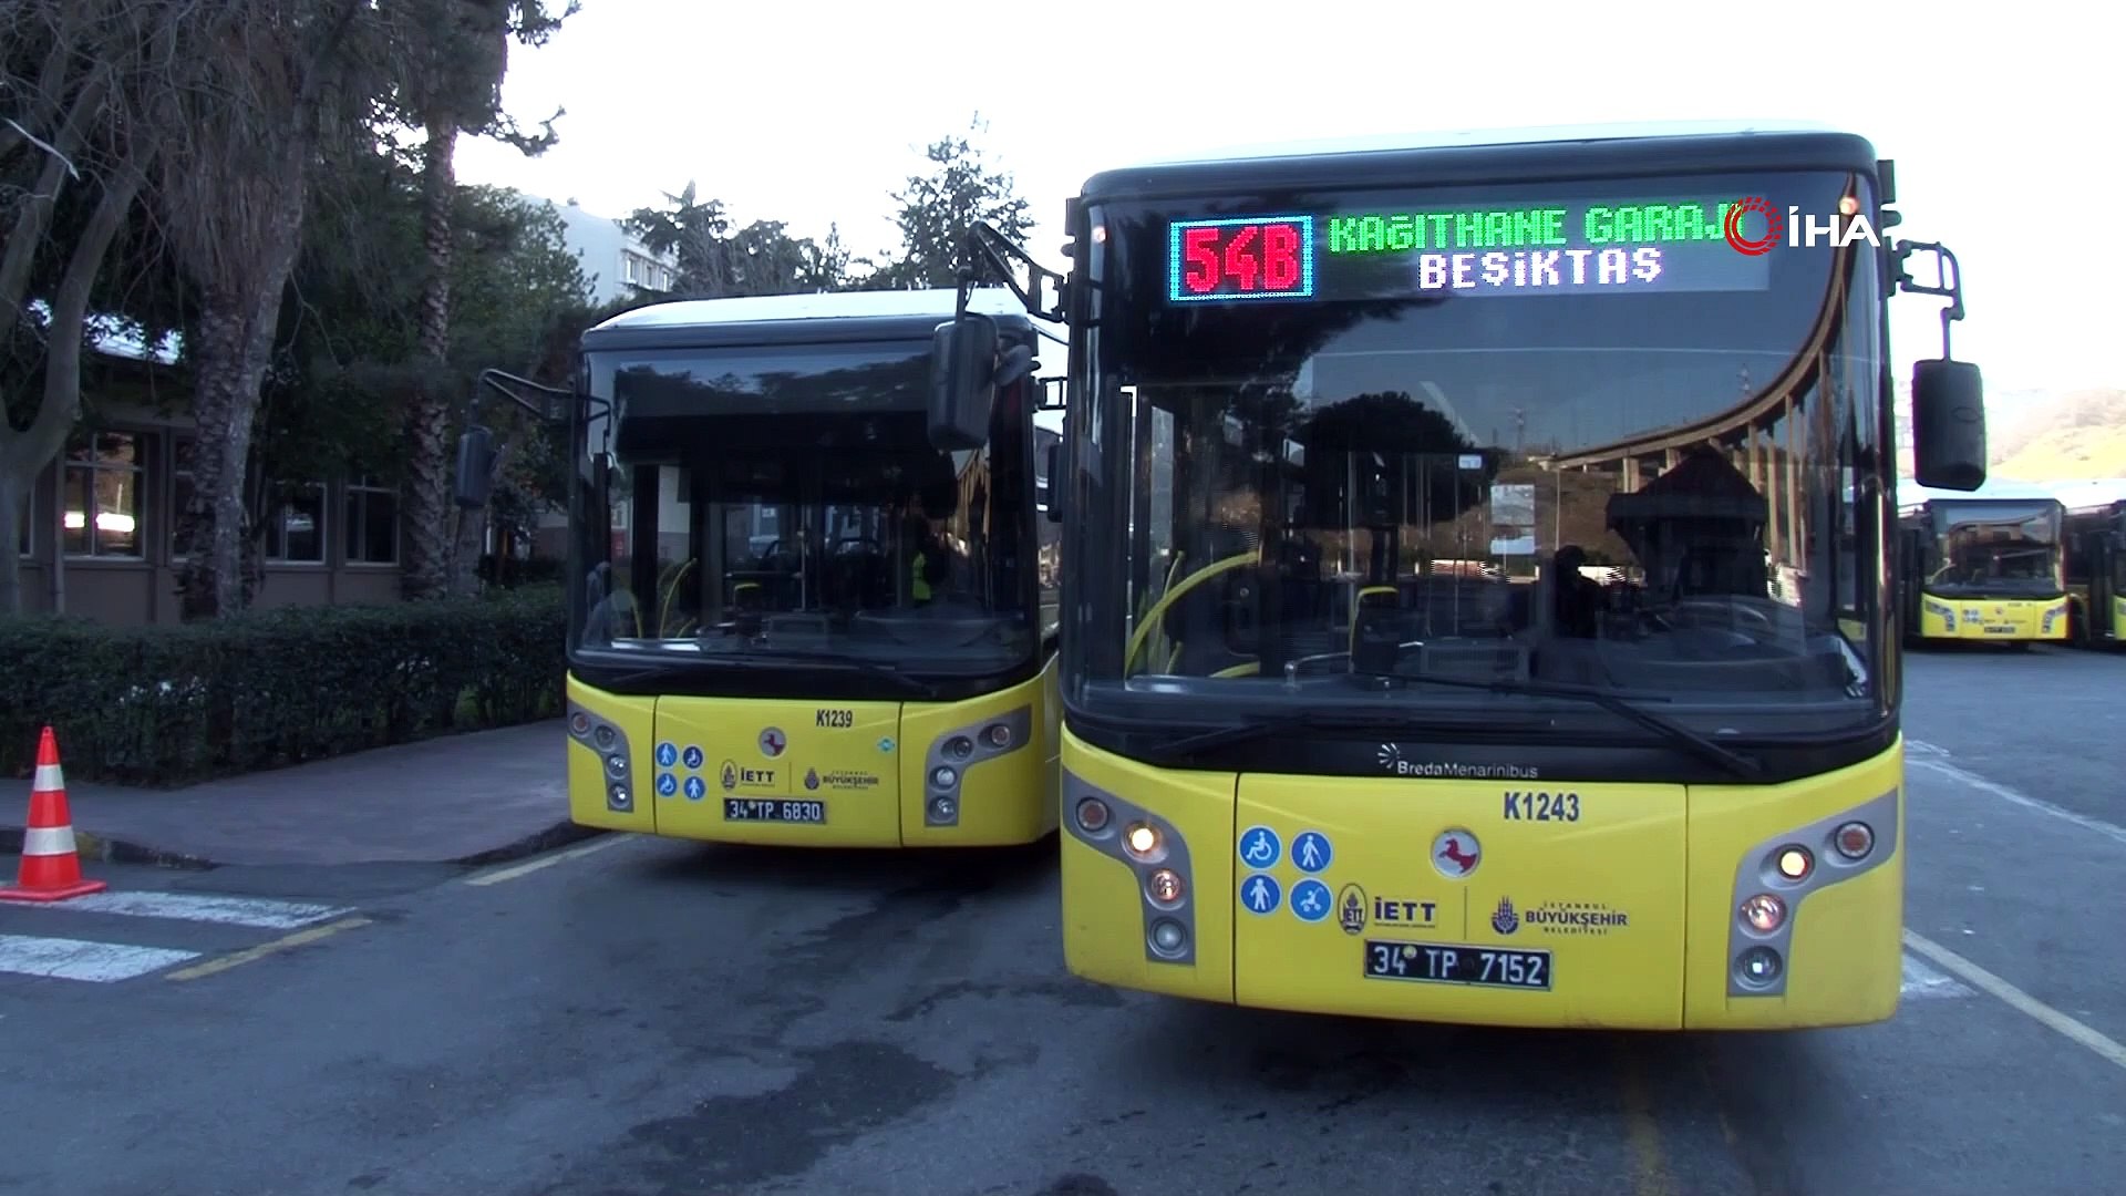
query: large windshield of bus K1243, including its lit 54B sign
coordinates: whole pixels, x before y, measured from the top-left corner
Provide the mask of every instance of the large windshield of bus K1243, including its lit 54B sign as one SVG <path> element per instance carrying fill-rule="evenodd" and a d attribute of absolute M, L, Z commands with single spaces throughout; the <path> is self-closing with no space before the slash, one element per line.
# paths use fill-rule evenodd
<path fill-rule="evenodd" d="M 1845 172 L 1089 200 L 1067 696 L 1879 717 L 1875 258 L 1739 253 L 1739 196 L 1871 202 Z"/>

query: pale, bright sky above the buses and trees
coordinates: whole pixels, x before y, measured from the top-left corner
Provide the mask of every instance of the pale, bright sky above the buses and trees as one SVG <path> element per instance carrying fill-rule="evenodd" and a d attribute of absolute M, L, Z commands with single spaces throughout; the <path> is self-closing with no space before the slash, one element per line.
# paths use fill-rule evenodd
<path fill-rule="evenodd" d="M 2096 6 L 1361 4 L 1074 0 L 1054 13 L 908 0 L 583 0 L 512 47 L 506 109 L 568 109 L 542 157 L 466 138 L 459 181 L 600 215 L 695 181 L 740 221 L 840 223 L 893 245 L 891 192 L 963 132 L 1033 202 L 1029 251 L 1063 266 L 1061 211 L 1112 166 L 1286 138 L 1586 121 L 1790 119 L 1896 160 L 1896 236 L 1941 240 L 1964 279 L 1954 355 L 2005 394 L 2126 385 L 2120 258 L 2077 215 L 2126 194 L 2115 40 Z M 974 17 L 969 13 L 980 13 Z M 1431 15 L 1427 15 L 1431 13 Z M 1933 266 L 1918 268 L 1930 277 Z M 1892 304 L 1892 355 L 1941 351 L 1941 300 Z"/>

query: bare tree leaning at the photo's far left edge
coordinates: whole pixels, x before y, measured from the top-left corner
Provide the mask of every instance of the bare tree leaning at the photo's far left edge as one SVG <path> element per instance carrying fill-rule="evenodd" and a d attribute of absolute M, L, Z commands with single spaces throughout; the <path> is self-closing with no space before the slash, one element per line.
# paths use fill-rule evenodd
<path fill-rule="evenodd" d="M 40 358 L 40 368 L 9 377 L 43 375 L 34 402 L 0 394 L 0 613 L 21 611 L 13 541 L 32 481 L 81 417 L 89 300 L 159 151 L 174 89 L 189 83 L 198 30 L 198 13 L 179 4 L 0 6 L 0 347 Z M 60 228 L 66 213 L 81 219 Z M 43 317 L 34 298 L 45 300 Z"/>

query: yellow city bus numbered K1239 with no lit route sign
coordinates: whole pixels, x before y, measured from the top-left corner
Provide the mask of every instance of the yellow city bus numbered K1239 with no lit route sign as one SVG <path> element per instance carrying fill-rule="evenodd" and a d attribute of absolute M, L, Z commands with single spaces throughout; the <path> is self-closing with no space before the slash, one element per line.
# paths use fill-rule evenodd
<path fill-rule="evenodd" d="M 1010 372 L 944 415 L 952 292 L 678 300 L 585 332 L 563 396 L 574 821 L 808 847 L 1054 830 L 1044 330 L 1001 292 L 976 309 Z M 485 453 L 468 432 L 463 502 Z"/>

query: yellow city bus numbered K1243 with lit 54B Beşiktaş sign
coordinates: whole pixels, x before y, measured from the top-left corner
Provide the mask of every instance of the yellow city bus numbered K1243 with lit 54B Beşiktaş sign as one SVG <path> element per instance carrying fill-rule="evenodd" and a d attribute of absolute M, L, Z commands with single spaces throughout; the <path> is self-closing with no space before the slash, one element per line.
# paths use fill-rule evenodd
<path fill-rule="evenodd" d="M 1752 196 L 1835 236 L 1743 253 Z M 1899 285 L 1950 300 L 1918 477 L 1986 479 L 1954 255 L 1877 249 L 1890 202 L 1826 130 L 1095 175 L 1059 304 L 1072 973 L 1424 1021 L 1890 1017 Z"/>

